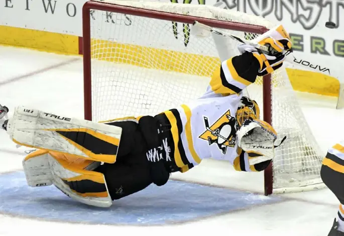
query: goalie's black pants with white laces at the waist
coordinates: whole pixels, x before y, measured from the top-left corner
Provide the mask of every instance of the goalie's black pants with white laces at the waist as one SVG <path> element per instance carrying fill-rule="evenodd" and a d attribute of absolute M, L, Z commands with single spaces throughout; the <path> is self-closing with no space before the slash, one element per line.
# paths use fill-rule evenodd
<path fill-rule="evenodd" d="M 106 124 L 122 127 L 116 163 L 104 163 L 94 170 L 104 175 L 112 200 L 143 190 L 152 183 L 162 186 L 170 173 L 180 171 L 169 157 L 168 143 L 173 140 L 166 132 L 170 127 L 163 123 L 161 115 L 116 119 Z M 148 161 L 149 158 L 155 162 Z"/>

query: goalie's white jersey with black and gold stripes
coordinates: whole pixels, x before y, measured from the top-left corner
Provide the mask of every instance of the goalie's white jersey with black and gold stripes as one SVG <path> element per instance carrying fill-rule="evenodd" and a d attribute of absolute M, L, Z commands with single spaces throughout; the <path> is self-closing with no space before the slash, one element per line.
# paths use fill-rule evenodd
<path fill-rule="evenodd" d="M 238 148 L 236 112 L 241 102 L 241 91 L 254 83 L 258 66 L 250 68 L 253 61 L 247 61 L 247 58 L 243 61 L 240 56 L 236 59 L 236 63 L 234 58 L 221 63 L 202 97 L 164 112 L 173 136 L 171 154 L 181 172 L 206 158 L 226 160 L 239 171 L 257 171 L 255 166 L 249 165 L 249 153 Z M 256 59 L 252 57 L 251 60 Z M 245 66 L 245 78 L 238 74 L 238 66 L 234 66 L 238 63 Z"/>

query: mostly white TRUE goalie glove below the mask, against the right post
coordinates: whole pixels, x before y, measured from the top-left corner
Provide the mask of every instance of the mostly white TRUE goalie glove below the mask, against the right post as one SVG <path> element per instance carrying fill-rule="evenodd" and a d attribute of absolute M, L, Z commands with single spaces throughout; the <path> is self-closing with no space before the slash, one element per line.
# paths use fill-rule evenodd
<path fill-rule="evenodd" d="M 262 120 L 246 120 L 237 131 L 238 145 L 246 152 L 255 152 L 255 157 L 250 157 L 250 165 L 255 165 L 275 156 L 275 147 L 282 144 L 284 137 L 279 145 L 275 145 L 277 133 L 274 128 Z"/>

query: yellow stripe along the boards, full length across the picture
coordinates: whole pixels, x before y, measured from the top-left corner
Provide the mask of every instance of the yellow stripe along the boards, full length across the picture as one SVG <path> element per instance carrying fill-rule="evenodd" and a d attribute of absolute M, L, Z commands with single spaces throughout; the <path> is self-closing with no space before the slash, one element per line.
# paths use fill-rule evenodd
<path fill-rule="evenodd" d="M 277 31 L 286 35 L 283 27 Z M 53 51 L 63 54 L 78 54 L 78 37 L 38 30 L 29 30 L 9 26 L 0 26 L 0 44 L 26 47 L 41 51 Z M 290 37 L 289 37 L 290 39 Z M 188 74 L 210 77 L 213 70 L 219 66 L 218 57 L 202 56 L 172 50 L 157 50 L 154 48 L 113 43 L 106 40 L 92 40 L 92 57 L 98 60 L 132 64 L 140 67 L 163 69 L 167 71 L 182 71 Z M 116 46 L 117 48 L 110 48 Z M 134 49 L 134 51 L 133 51 Z M 123 53 L 122 53 L 123 52 Z M 157 57 L 155 60 L 154 58 Z M 184 59 L 184 60 L 183 60 Z M 161 61 L 164 61 L 162 63 Z M 180 62 L 187 63 L 181 66 Z M 194 61 L 207 63 L 199 68 Z M 209 66 L 209 67 L 208 67 Z M 332 76 L 313 71 L 286 68 L 294 90 L 308 93 L 338 97 L 339 81 Z"/>

